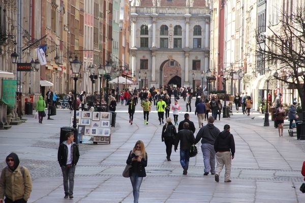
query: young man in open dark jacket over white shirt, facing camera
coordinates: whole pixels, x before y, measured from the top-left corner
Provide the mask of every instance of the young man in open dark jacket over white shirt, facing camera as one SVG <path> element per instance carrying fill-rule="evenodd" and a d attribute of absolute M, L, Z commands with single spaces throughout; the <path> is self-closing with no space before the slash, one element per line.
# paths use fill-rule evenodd
<path fill-rule="evenodd" d="M 59 145 L 57 160 L 63 172 L 64 198 L 73 198 L 75 167 L 79 159 L 78 145 L 74 141 L 74 132 L 66 134 L 66 141 Z"/>

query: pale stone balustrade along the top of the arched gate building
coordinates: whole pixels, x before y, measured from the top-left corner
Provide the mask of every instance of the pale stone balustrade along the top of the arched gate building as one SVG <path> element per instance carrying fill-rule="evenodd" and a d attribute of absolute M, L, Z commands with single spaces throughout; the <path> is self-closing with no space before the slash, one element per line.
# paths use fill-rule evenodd
<path fill-rule="evenodd" d="M 172 14 L 172 15 L 204 15 L 209 14 L 208 7 L 131 7 L 131 13 L 156 13 L 156 14 Z"/>

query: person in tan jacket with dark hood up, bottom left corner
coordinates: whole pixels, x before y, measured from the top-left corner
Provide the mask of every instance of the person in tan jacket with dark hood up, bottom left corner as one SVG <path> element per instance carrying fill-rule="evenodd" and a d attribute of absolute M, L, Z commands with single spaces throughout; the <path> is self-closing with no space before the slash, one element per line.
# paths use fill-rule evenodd
<path fill-rule="evenodd" d="M 33 187 L 31 174 L 16 153 L 6 157 L 6 164 L 0 177 L 0 203 L 26 203 Z"/>

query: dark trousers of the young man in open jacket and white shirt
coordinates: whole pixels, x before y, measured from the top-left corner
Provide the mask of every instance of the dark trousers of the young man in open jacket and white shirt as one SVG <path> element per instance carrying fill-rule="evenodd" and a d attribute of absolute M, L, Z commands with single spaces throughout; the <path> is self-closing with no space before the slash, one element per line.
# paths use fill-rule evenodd
<path fill-rule="evenodd" d="M 73 195 L 75 165 L 72 165 L 71 167 L 62 166 L 62 172 L 64 178 L 65 194 Z M 69 185 L 68 185 L 68 179 L 69 179 Z"/>

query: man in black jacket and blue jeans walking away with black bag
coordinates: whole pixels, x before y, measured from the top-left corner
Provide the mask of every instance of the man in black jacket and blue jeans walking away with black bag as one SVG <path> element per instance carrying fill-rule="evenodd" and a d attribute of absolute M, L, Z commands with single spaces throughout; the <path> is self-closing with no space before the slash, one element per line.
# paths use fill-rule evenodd
<path fill-rule="evenodd" d="M 177 133 L 175 138 L 175 152 L 180 142 L 180 163 L 183 168 L 183 175 L 188 174 L 190 149 L 195 141 L 194 133 L 189 130 L 189 126 L 190 124 L 185 122 L 183 124 L 183 129 Z"/>

